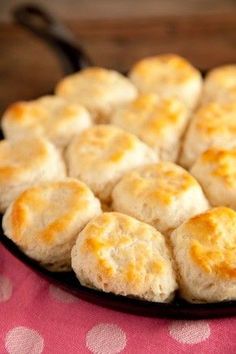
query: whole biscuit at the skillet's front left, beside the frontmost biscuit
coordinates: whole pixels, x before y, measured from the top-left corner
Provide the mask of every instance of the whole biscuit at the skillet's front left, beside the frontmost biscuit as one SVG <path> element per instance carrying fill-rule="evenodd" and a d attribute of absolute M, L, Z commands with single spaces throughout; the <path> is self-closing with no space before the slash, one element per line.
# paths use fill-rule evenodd
<path fill-rule="evenodd" d="M 29 188 L 9 206 L 3 229 L 25 254 L 52 271 L 71 268 L 79 231 L 101 212 L 82 182 L 64 179 Z"/>

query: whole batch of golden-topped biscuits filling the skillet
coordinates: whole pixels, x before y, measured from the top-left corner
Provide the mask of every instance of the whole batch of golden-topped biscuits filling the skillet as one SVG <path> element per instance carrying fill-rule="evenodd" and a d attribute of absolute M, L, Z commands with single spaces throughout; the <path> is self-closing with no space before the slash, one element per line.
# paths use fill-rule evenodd
<path fill-rule="evenodd" d="M 1 122 L 3 232 L 26 255 L 146 301 L 236 300 L 236 65 L 89 67 Z"/>

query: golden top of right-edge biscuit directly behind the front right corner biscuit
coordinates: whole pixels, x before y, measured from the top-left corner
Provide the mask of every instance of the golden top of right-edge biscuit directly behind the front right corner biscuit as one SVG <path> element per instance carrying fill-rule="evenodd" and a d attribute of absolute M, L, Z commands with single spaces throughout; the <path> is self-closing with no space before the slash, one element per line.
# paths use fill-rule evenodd
<path fill-rule="evenodd" d="M 212 176 L 228 187 L 236 187 L 236 149 L 211 148 L 202 154 L 200 161 L 210 167 Z"/>

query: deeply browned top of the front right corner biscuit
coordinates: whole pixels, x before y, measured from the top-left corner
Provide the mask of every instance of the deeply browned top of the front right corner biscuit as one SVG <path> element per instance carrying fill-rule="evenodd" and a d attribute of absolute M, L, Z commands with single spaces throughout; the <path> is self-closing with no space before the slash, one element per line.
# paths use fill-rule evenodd
<path fill-rule="evenodd" d="M 236 279 L 236 212 L 213 208 L 185 224 L 190 257 L 204 272 Z"/>

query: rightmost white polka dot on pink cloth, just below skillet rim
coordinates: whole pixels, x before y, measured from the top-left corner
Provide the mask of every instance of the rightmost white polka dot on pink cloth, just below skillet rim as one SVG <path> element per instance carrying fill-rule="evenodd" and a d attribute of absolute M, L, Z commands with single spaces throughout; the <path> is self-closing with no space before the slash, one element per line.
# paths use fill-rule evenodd
<path fill-rule="evenodd" d="M 210 336 L 211 329 L 205 321 L 174 321 L 169 326 L 169 333 L 177 342 L 197 344 Z"/>

